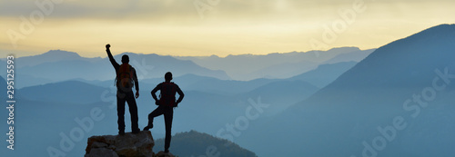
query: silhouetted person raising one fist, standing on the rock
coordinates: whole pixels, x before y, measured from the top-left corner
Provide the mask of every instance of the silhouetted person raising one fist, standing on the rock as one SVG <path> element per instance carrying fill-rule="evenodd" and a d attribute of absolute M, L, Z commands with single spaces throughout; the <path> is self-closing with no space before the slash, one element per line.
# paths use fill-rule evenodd
<path fill-rule="evenodd" d="M 140 132 L 137 124 L 137 105 L 133 94 L 133 84 L 136 87 L 136 98 L 139 97 L 139 82 L 137 81 L 136 70 L 129 65 L 128 55 L 122 56 L 122 64 L 117 64 L 109 50 L 110 44 L 106 44 L 106 53 L 109 61 L 116 69 L 116 111 L 118 115 L 118 134 L 125 134 L 125 102 L 128 103 L 131 114 L 131 131 Z"/>

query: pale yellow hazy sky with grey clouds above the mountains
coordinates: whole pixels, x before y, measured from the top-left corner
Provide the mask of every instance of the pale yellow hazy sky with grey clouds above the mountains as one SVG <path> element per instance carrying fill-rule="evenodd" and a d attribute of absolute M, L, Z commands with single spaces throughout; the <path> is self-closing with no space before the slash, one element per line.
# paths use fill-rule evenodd
<path fill-rule="evenodd" d="M 453 0 L 1 0 L 0 53 L 180 56 L 378 48 L 455 23 Z M 1 56 L 0 58 L 4 58 Z"/>

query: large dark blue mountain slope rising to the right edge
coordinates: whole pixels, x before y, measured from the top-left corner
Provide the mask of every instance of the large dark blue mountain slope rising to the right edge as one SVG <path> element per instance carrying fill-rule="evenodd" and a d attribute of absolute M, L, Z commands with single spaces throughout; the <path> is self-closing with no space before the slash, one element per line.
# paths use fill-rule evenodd
<path fill-rule="evenodd" d="M 259 156 L 451 156 L 453 58 L 455 25 L 386 44 L 236 142 Z M 265 134 L 278 144 L 257 144 Z"/>

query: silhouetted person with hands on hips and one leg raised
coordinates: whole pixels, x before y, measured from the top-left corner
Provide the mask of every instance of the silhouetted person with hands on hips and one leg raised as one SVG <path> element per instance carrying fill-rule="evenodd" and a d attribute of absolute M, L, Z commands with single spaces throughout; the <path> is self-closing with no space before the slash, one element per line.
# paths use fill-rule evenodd
<path fill-rule="evenodd" d="M 153 119 L 164 114 L 166 124 L 165 152 L 169 152 L 172 117 L 174 115 L 173 108 L 177 107 L 178 103 L 182 102 L 185 95 L 176 83 L 170 82 L 172 80 L 172 74 L 170 72 L 165 74 L 165 80 L 164 83 L 159 83 L 151 92 L 153 99 L 155 99 L 155 104 L 157 104 L 158 107 L 152 113 L 148 114 L 148 125 L 144 130 L 148 131 L 148 129 L 153 128 Z M 157 99 L 157 94 L 155 94 L 158 90 L 160 91 L 159 100 Z M 179 95 L 177 102 L 176 93 Z"/>

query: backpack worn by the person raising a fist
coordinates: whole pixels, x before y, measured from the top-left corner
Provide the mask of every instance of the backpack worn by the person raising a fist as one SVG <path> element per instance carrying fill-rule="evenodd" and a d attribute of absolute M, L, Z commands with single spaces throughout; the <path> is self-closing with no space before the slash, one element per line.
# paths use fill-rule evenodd
<path fill-rule="evenodd" d="M 131 65 L 120 65 L 116 74 L 116 86 L 125 89 L 133 88 L 133 72 Z"/>

